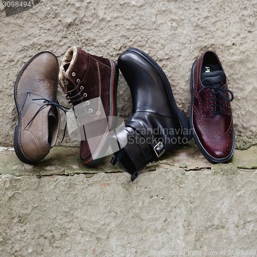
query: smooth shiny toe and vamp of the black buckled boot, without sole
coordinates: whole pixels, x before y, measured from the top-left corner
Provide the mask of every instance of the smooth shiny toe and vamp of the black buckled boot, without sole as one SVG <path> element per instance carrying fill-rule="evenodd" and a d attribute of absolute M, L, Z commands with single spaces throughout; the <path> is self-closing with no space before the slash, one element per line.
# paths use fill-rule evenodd
<path fill-rule="evenodd" d="M 132 50 L 130 50 L 132 49 Z M 129 48 L 118 59 L 119 69 L 131 90 L 133 113 L 174 114 L 162 77 L 154 67 Z"/>

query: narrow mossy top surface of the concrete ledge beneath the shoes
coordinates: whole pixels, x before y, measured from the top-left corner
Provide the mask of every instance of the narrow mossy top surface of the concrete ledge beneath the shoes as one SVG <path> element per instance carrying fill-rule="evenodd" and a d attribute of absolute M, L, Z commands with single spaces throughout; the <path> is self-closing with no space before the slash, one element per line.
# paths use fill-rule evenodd
<path fill-rule="evenodd" d="M 88 177 L 96 173 L 123 172 L 117 164 L 113 167 L 105 157 L 97 168 L 88 168 L 81 163 L 79 148 L 67 148 L 57 146 L 51 149 L 45 160 L 35 165 L 24 164 L 15 155 L 13 148 L 0 148 L 0 175 L 10 174 L 14 176 L 50 176 L 50 175 L 74 175 L 86 174 Z M 257 169 L 257 146 L 251 146 L 248 150 L 235 150 L 231 163 L 212 164 L 200 153 L 194 143 L 163 155 L 158 161 L 146 166 L 141 172 L 156 171 L 158 169 L 183 169 L 185 171 L 197 171 L 203 169 L 222 170 L 225 167 L 234 167 L 245 172 L 254 172 Z"/>

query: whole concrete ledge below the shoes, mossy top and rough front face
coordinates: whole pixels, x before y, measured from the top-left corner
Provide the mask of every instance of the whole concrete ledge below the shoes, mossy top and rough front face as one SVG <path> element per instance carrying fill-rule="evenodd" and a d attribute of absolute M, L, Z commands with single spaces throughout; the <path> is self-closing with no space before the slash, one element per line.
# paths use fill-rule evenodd
<path fill-rule="evenodd" d="M 131 182 L 109 158 L 85 168 L 78 148 L 53 148 L 34 166 L 0 148 L 0 256 L 257 252 L 256 151 L 211 164 L 191 143 Z"/>

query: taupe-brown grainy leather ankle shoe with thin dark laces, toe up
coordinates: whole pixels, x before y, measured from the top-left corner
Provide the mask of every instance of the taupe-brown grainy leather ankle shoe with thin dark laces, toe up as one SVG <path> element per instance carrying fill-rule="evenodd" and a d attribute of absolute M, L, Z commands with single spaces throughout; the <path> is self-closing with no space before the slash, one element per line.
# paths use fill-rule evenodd
<path fill-rule="evenodd" d="M 60 113 L 56 107 L 59 64 L 53 53 L 33 56 L 14 85 L 19 124 L 14 131 L 14 150 L 28 164 L 45 158 L 56 144 Z"/>

